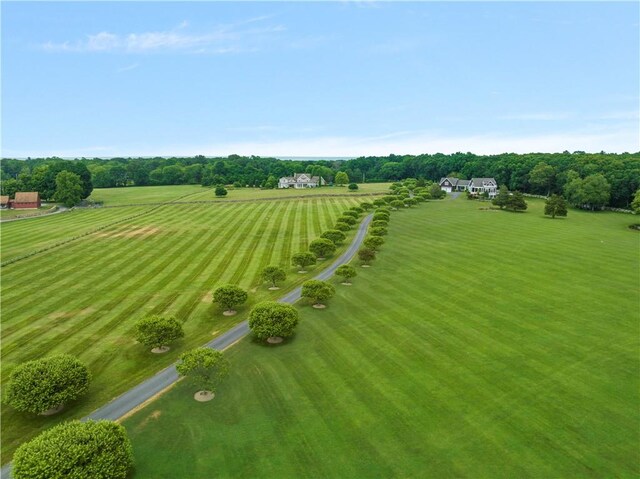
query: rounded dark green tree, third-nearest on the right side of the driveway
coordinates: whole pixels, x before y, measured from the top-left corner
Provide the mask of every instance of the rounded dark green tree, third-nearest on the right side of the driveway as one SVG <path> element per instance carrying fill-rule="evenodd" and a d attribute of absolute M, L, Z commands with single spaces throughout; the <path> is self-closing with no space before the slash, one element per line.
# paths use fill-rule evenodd
<path fill-rule="evenodd" d="M 293 335 L 298 321 L 296 308 L 276 301 L 258 303 L 249 313 L 249 327 L 258 339 L 287 338 Z"/>

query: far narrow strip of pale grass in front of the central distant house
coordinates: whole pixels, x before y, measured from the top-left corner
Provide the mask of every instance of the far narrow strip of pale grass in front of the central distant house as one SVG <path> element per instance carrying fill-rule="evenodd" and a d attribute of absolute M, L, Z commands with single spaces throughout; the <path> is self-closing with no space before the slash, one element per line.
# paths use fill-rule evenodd
<path fill-rule="evenodd" d="M 93 190 L 90 199 L 103 202 L 105 206 L 117 206 L 136 203 L 158 203 L 164 201 L 259 200 L 317 195 L 345 195 L 357 197 L 357 195 L 362 194 L 386 193 L 389 191 L 389 185 L 390 183 L 367 183 L 359 185 L 359 189 L 356 192 L 351 192 L 346 187 L 338 186 L 299 190 L 293 188 L 284 190 L 229 188 L 227 196 L 223 198 L 216 197 L 213 192 L 213 188 L 205 188 L 200 185 L 134 186 L 128 188 L 97 188 Z"/>

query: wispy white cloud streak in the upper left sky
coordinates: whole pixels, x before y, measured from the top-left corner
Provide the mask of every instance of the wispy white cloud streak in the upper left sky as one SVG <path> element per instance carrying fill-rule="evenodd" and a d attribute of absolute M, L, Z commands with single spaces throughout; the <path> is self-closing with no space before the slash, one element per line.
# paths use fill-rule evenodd
<path fill-rule="evenodd" d="M 282 25 L 240 28 L 262 22 L 270 17 L 255 17 L 231 25 L 221 25 L 204 33 L 189 33 L 185 20 L 169 31 L 117 34 L 99 32 L 87 35 L 83 40 L 62 43 L 47 42 L 41 47 L 51 52 L 190 52 L 190 53 L 237 53 L 255 51 L 265 39 L 282 32 Z"/>

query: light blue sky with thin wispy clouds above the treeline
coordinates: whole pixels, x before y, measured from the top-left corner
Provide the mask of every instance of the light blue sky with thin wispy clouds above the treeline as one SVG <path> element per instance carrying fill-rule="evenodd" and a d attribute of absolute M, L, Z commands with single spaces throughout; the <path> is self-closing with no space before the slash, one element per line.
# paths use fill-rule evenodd
<path fill-rule="evenodd" d="M 2 2 L 2 155 L 639 151 L 638 2 Z"/>

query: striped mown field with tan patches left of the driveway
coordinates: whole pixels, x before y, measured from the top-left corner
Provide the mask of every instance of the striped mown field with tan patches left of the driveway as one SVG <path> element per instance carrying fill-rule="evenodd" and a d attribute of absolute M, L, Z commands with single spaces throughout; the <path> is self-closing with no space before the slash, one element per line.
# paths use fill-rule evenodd
<path fill-rule="evenodd" d="M 241 321 L 253 302 L 308 279 L 313 270 L 297 274 L 291 254 L 360 201 L 100 208 L 3 225 L 6 257 L 94 231 L 2 268 L 3 381 L 16 364 L 66 352 L 88 364 L 94 382 L 89 395 L 60 416 L 34 418 L 3 408 L 2 462 L 19 442 L 89 413 Z M 259 271 L 268 264 L 290 272 L 280 292 L 260 283 Z M 223 318 L 211 303 L 212 289 L 227 282 L 250 290 L 250 304 L 234 318 Z M 132 338 L 134 322 L 148 313 L 184 322 L 185 339 L 166 355 L 152 355 Z"/>

